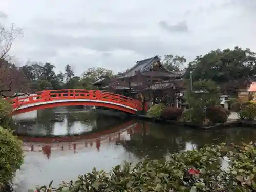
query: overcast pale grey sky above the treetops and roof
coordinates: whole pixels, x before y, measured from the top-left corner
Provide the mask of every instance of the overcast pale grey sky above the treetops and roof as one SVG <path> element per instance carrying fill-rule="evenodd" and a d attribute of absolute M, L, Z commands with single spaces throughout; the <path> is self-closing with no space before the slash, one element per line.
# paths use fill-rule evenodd
<path fill-rule="evenodd" d="M 0 0 L 0 22 L 23 28 L 11 55 L 115 72 L 155 55 L 188 60 L 238 45 L 256 52 L 255 0 Z"/>

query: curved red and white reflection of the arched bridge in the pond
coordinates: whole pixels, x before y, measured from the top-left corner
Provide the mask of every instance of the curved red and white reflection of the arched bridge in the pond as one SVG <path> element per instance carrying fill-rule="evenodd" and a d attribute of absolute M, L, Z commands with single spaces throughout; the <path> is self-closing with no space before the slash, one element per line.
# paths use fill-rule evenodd
<path fill-rule="evenodd" d="M 57 138 L 23 136 L 21 137 L 24 141 L 23 151 L 42 152 L 47 158 L 50 158 L 52 151 L 70 150 L 76 153 L 77 150 L 83 148 L 88 148 L 89 150 L 97 149 L 97 151 L 100 151 L 102 144 L 111 142 L 120 143 L 121 141 L 130 140 L 132 135 L 142 131 L 140 125 L 138 122 L 130 120 L 112 129 L 86 135 L 60 136 Z M 145 133 L 147 134 L 148 129 L 145 129 Z"/>

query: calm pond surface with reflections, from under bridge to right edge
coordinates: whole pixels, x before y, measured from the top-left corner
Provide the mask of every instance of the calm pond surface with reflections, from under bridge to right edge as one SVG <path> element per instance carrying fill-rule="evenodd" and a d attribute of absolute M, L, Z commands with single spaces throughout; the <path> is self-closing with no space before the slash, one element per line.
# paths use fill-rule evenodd
<path fill-rule="evenodd" d="M 24 141 L 25 163 L 14 180 L 16 191 L 54 180 L 57 186 L 93 167 L 109 170 L 125 160 L 198 148 L 204 144 L 256 140 L 253 129 L 215 131 L 123 119 L 84 109 L 54 108 L 16 115 L 15 134 Z"/>

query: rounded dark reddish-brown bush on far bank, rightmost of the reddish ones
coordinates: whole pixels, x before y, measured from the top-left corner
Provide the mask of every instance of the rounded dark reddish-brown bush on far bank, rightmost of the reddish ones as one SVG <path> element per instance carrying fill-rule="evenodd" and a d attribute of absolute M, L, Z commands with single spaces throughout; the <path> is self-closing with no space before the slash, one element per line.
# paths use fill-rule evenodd
<path fill-rule="evenodd" d="M 213 124 L 225 123 L 230 112 L 222 106 L 210 106 L 206 109 L 206 118 L 209 119 Z"/>

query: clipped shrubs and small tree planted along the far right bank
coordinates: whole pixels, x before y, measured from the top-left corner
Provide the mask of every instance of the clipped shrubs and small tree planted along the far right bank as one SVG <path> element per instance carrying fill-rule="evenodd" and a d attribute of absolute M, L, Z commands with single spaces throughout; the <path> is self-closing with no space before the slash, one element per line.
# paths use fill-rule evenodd
<path fill-rule="evenodd" d="M 227 122 L 230 111 L 237 112 L 241 120 L 253 121 L 256 117 L 256 104 L 251 101 L 240 102 L 238 99 L 231 98 L 230 111 L 223 108 L 220 105 L 220 90 L 213 81 L 196 81 L 193 83 L 193 89 L 194 92 L 185 94 L 189 109 L 183 110 L 159 103 L 151 106 L 147 116 L 163 121 L 190 123 L 200 127 Z"/>

